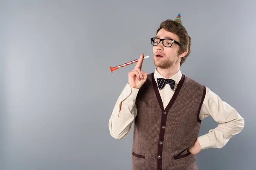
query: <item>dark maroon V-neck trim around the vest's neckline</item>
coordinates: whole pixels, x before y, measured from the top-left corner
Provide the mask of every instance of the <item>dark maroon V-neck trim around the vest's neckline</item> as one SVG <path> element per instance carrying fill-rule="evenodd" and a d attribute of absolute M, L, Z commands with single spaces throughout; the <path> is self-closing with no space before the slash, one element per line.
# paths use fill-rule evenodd
<path fill-rule="evenodd" d="M 173 96 L 172 96 L 172 99 L 170 100 L 170 102 L 168 103 L 168 105 L 166 106 L 166 108 L 164 109 L 164 108 L 163 108 L 163 101 L 162 101 L 161 96 L 160 96 L 160 93 L 159 93 L 159 91 L 158 91 L 157 82 L 156 82 L 155 79 L 154 79 L 154 72 L 152 73 L 152 82 L 153 82 L 154 92 L 155 92 L 155 94 L 156 94 L 156 96 L 157 96 L 157 101 L 158 101 L 158 104 L 160 105 L 160 108 L 161 108 L 162 111 L 166 111 L 166 112 L 168 113 L 168 111 L 169 111 L 170 108 L 172 107 L 173 103 L 175 102 L 175 99 L 177 98 L 177 96 L 178 96 L 178 94 L 179 94 L 179 92 L 180 92 L 180 89 L 181 89 L 181 87 L 182 87 L 182 85 L 183 85 L 184 80 L 185 80 L 185 75 L 182 74 L 182 77 L 181 77 L 181 79 L 180 79 L 180 82 L 179 82 L 179 84 L 177 85 L 177 88 L 176 88 L 176 90 L 175 90 L 175 92 L 174 92 L 174 94 L 173 94 Z"/>

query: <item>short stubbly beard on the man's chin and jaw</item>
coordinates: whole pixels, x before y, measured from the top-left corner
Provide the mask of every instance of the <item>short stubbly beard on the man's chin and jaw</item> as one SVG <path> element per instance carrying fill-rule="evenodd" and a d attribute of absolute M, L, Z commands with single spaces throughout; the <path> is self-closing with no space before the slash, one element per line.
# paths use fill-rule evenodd
<path fill-rule="evenodd" d="M 177 62 L 177 60 L 179 59 L 178 56 L 175 56 L 173 58 L 160 58 L 160 59 L 156 59 L 154 57 L 154 65 L 159 67 L 159 68 L 163 68 L 163 69 L 167 69 L 167 68 L 172 68 L 173 65 L 175 65 L 175 63 Z"/>

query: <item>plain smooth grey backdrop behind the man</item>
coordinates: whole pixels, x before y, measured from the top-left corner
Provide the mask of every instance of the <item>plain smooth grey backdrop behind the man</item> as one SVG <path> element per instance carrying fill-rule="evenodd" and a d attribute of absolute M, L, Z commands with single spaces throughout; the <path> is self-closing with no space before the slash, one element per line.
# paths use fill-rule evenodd
<path fill-rule="evenodd" d="M 108 120 L 129 65 L 150 55 L 150 37 L 181 14 L 192 37 L 183 74 L 245 119 L 222 149 L 197 155 L 199 170 L 252 170 L 255 152 L 256 1 L 0 2 L 0 169 L 131 170 L 132 131 L 110 136 Z M 217 124 L 204 119 L 199 135 Z"/>

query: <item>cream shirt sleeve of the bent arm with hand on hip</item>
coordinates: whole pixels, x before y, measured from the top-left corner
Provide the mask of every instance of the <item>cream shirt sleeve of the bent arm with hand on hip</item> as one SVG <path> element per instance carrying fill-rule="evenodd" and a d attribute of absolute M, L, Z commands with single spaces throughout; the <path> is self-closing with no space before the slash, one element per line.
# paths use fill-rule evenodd
<path fill-rule="evenodd" d="M 219 96 L 207 88 L 207 93 L 201 107 L 200 119 L 212 116 L 218 127 L 209 130 L 209 133 L 199 136 L 201 149 L 222 148 L 234 135 L 244 128 L 244 118 Z"/>

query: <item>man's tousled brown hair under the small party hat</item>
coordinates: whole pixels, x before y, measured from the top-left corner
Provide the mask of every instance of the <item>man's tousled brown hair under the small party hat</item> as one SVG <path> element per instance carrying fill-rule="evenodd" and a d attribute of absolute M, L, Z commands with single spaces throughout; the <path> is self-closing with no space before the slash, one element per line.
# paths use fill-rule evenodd
<path fill-rule="evenodd" d="M 164 28 L 166 31 L 172 32 L 173 34 L 176 34 L 180 38 L 180 51 L 179 54 L 183 53 L 188 49 L 188 53 L 181 58 L 180 65 L 185 62 L 186 58 L 189 57 L 189 54 L 191 52 L 191 37 L 189 36 L 188 32 L 186 31 L 186 28 L 181 25 L 180 23 L 177 23 L 173 20 L 165 20 L 160 24 L 160 27 L 157 29 L 160 31 L 160 29 Z"/>

